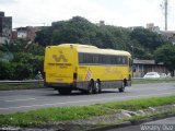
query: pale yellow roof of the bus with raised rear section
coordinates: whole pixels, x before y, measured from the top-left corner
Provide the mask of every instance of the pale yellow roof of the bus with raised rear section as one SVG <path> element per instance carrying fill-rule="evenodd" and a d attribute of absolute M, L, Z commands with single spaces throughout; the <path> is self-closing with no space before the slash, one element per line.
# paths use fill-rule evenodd
<path fill-rule="evenodd" d="M 96 46 L 91 46 L 91 45 L 61 44 L 61 45 L 58 45 L 57 47 L 71 47 L 71 48 L 75 48 L 78 50 L 78 52 L 130 56 L 130 53 L 128 51 L 114 50 L 114 49 L 101 49 L 101 48 L 97 48 Z"/>

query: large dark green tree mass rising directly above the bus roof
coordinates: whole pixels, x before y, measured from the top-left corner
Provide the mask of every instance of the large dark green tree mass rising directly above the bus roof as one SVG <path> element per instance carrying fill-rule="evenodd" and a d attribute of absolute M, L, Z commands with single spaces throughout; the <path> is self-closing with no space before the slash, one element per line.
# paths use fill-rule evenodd
<path fill-rule="evenodd" d="M 81 16 L 54 22 L 50 27 L 38 32 L 35 40 L 43 46 L 80 43 L 129 52 L 133 49 L 133 57 L 140 59 L 152 59 L 158 47 L 170 43 L 162 35 L 142 27 L 98 26 Z"/>

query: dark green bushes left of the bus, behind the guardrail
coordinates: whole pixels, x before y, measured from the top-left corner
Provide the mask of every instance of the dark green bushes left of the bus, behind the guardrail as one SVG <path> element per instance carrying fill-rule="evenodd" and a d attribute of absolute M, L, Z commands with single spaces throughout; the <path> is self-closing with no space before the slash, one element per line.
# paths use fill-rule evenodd
<path fill-rule="evenodd" d="M 19 39 L 0 47 L 0 80 L 34 79 L 43 71 L 44 47 Z"/>

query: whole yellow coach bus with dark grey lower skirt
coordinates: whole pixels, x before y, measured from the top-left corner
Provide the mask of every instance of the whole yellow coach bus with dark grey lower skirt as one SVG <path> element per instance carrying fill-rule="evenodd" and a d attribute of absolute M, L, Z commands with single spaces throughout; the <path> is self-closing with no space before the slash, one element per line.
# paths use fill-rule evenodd
<path fill-rule="evenodd" d="M 80 90 L 89 94 L 103 88 L 124 92 L 131 85 L 131 55 L 122 50 L 101 49 L 80 44 L 48 46 L 45 50 L 45 85 L 70 94 Z"/>

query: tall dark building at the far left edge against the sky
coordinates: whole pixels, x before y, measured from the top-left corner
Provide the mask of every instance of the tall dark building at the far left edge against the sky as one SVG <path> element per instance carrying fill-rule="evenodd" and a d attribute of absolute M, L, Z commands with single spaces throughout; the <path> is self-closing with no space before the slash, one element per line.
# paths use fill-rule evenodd
<path fill-rule="evenodd" d="M 4 16 L 4 12 L 0 12 L 0 44 L 10 41 L 12 36 L 12 16 Z"/>

